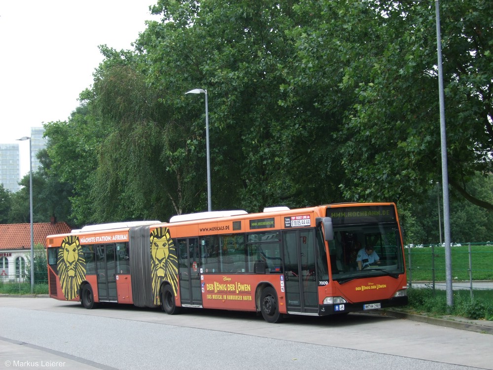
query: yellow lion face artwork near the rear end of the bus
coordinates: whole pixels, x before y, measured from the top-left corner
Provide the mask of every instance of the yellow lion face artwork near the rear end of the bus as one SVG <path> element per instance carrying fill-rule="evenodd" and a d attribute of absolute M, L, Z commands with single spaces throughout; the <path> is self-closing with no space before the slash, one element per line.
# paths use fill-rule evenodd
<path fill-rule="evenodd" d="M 80 283 L 86 276 L 86 260 L 78 236 L 66 236 L 62 241 L 57 268 L 65 299 L 71 300 L 78 296 Z"/>

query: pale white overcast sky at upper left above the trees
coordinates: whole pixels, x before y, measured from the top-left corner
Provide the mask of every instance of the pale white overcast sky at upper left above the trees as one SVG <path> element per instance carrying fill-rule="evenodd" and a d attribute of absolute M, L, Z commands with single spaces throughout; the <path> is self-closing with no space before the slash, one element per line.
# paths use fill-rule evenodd
<path fill-rule="evenodd" d="M 98 45 L 129 49 L 154 0 L 0 0 L 0 143 L 18 143 L 29 172 L 31 127 L 67 120 L 103 60 Z"/>

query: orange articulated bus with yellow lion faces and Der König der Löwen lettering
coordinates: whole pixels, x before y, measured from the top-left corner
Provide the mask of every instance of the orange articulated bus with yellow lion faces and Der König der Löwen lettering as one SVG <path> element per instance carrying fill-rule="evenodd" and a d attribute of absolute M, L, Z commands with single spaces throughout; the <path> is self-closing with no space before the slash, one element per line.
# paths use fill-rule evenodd
<path fill-rule="evenodd" d="M 365 248 L 373 258 L 362 253 Z M 286 315 L 407 304 L 393 203 L 90 225 L 49 235 L 47 251 L 49 295 L 88 309 L 118 302 L 168 314 L 184 307 L 238 310 L 277 323 Z"/>

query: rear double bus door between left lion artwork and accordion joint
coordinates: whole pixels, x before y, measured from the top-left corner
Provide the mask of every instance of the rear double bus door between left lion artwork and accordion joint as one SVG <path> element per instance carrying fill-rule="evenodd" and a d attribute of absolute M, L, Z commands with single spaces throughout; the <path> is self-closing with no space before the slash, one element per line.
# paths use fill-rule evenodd
<path fill-rule="evenodd" d="M 100 301 L 118 301 L 116 294 L 115 245 L 96 245 L 96 271 Z"/>

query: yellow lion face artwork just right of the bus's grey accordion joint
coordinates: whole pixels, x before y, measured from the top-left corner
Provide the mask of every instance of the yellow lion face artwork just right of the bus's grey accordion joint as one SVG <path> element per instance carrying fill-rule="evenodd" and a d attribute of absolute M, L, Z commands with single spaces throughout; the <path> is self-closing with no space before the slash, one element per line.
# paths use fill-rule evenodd
<path fill-rule="evenodd" d="M 175 296 L 178 292 L 178 259 L 168 227 L 158 227 L 151 231 L 150 248 L 152 293 L 154 304 L 159 305 L 159 289 L 164 280 L 170 282 Z"/>

